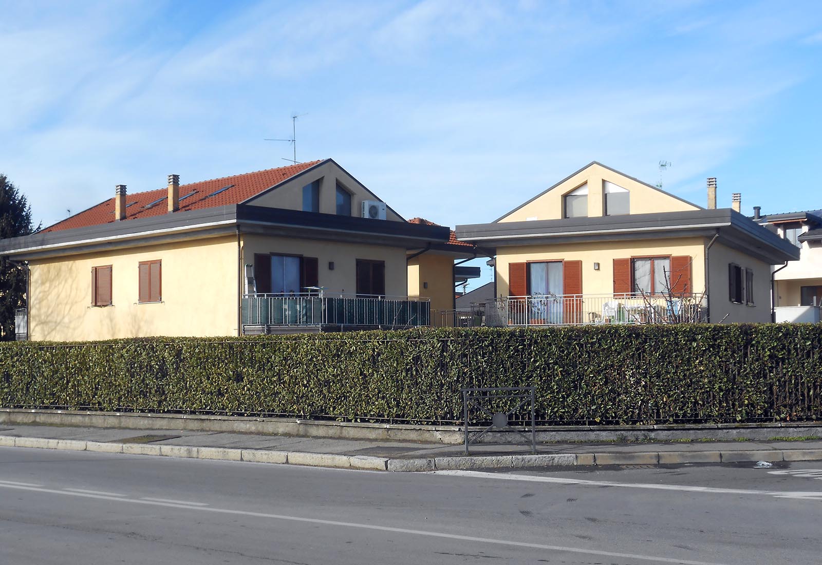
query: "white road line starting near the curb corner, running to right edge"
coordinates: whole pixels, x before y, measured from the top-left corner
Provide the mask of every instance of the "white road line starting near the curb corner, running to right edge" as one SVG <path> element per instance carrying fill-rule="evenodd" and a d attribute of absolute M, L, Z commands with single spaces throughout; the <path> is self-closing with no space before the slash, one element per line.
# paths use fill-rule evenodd
<path fill-rule="evenodd" d="M 752 489 L 719 489 L 709 486 L 690 485 L 656 485 L 653 483 L 614 483 L 607 480 L 584 480 L 566 479 L 565 477 L 552 477 L 543 475 L 505 475 L 501 473 L 488 473 L 484 471 L 430 471 L 430 475 L 457 475 L 469 476 L 478 479 L 496 480 L 526 480 L 538 483 L 555 483 L 559 485 L 589 485 L 589 486 L 615 486 L 623 489 L 653 489 L 653 490 L 678 490 L 686 493 L 713 493 L 713 494 L 762 494 L 765 496 L 775 496 L 777 498 L 805 498 L 808 500 L 822 500 L 822 492 L 792 492 L 778 490 L 752 490 Z"/>

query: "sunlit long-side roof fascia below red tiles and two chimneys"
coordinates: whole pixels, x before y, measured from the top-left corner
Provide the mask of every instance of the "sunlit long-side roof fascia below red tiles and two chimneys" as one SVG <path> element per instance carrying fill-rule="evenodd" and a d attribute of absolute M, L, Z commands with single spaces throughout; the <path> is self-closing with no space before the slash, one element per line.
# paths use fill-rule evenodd
<path fill-rule="evenodd" d="M 150 218 L 136 218 L 96 224 L 87 227 L 37 232 L 30 236 L 0 240 L 0 255 L 30 255 L 45 250 L 65 250 L 77 246 L 94 248 L 110 245 L 111 241 L 128 241 L 138 237 L 161 237 L 170 233 L 195 232 L 236 223 L 236 205 L 216 206 Z"/>

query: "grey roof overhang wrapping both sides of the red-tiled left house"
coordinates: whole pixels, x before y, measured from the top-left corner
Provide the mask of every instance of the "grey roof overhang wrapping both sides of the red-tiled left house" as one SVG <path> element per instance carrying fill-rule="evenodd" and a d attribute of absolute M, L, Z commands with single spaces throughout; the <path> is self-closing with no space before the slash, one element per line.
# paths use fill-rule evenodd
<path fill-rule="evenodd" d="M 448 241 L 447 227 L 315 214 L 248 204 L 175 212 L 151 218 L 39 232 L 0 240 L 0 255 L 16 260 L 77 255 L 241 233 L 346 241 L 406 249 Z"/>

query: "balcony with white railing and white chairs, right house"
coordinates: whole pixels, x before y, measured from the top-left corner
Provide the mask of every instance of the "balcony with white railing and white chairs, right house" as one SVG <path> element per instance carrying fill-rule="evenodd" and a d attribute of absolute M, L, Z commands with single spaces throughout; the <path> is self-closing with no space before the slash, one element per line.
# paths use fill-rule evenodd
<path fill-rule="evenodd" d="M 476 319 L 476 316 L 474 316 Z M 485 305 L 487 326 L 688 324 L 704 321 L 704 295 L 545 295 L 498 298 Z"/>

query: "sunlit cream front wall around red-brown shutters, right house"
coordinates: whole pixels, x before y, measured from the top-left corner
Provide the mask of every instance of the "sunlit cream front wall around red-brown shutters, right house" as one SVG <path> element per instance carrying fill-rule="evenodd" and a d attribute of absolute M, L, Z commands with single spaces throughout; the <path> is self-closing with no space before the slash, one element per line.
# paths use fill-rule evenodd
<path fill-rule="evenodd" d="M 592 241 L 552 246 L 512 246 L 496 250 L 496 294 L 508 296 L 508 265 L 524 261 L 581 260 L 583 294 L 613 293 L 613 260 L 647 255 L 688 255 L 692 258 L 694 292 L 704 292 L 704 238 L 638 241 Z M 593 264 L 599 270 L 593 270 Z"/>

